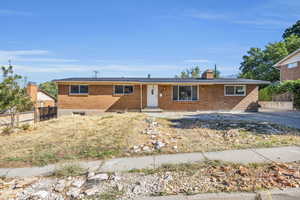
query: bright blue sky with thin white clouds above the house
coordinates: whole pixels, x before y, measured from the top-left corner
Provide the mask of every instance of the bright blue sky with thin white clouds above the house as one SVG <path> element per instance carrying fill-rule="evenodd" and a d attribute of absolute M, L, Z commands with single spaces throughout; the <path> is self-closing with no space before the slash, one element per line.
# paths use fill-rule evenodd
<path fill-rule="evenodd" d="M 35 82 L 214 64 L 227 76 L 250 47 L 279 41 L 299 10 L 299 0 L 3 0 L 0 64 L 11 59 Z"/>

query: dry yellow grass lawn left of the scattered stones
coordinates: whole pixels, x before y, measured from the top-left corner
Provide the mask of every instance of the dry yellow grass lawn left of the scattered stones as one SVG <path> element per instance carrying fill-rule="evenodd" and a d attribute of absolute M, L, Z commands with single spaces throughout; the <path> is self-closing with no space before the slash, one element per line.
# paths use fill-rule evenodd
<path fill-rule="evenodd" d="M 126 156 L 146 136 L 142 114 L 68 116 L 40 122 L 28 131 L 0 134 L 0 166 L 45 165 L 60 160 Z"/>

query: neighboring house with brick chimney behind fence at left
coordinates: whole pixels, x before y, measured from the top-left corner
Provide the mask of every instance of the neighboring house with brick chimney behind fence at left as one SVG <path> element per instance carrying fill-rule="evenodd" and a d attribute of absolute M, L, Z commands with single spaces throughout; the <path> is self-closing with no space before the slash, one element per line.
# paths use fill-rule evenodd
<path fill-rule="evenodd" d="M 27 94 L 35 103 L 35 107 L 48 107 L 56 105 L 56 98 L 51 96 L 47 92 L 39 89 L 35 83 L 28 83 Z"/>

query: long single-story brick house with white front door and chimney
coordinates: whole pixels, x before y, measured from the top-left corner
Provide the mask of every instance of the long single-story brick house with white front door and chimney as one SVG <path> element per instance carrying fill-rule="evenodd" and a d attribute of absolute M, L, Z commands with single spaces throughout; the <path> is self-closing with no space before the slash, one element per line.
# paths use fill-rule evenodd
<path fill-rule="evenodd" d="M 258 108 L 258 85 L 267 81 L 213 78 L 65 78 L 58 85 L 58 114 L 106 111 L 204 111 Z"/>

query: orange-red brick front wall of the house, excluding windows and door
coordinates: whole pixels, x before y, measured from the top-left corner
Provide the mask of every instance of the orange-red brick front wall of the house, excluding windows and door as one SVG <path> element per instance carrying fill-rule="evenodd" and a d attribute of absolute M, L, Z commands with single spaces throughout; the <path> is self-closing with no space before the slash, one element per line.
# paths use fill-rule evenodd
<path fill-rule="evenodd" d="M 134 93 L 113 95 L 112 85 L 90 85 L 89 95 L 69 95 L 68 85 L 59 85 L 59 109 L 98 109 L 103 111 L 139 110 L 140 86 L 134 86 Z M 257 106 L 258 87 L 247 85 L 246 96 L 224 96 L 224 85 L 199 86 L 199 100 L 178 102 L 172 100 L 172 86 L 159 85 L 159 107 L 164 110 L 247 110 Z M 143 86 L 143 108 L 147 105 L 147 87 Z"/>

